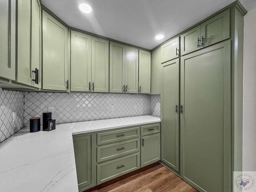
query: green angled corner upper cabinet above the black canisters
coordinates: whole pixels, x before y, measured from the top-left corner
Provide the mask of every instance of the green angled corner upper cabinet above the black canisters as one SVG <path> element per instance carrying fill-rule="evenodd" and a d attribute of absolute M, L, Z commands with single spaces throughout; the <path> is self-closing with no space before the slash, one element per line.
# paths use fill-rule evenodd
<path fill-rule="evenodd" d="M 43 10 L 42 83 L 46 90 L 68 90 L 68 28 Z"/>

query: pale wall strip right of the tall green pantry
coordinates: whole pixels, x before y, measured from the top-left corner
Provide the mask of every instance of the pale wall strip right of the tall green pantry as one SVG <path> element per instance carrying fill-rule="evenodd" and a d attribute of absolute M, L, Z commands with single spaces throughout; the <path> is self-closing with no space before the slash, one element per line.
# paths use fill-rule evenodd
<path fill-rule="evenodd" d="M 256 8 L 244 16 L 243 170 L 256 171 Z"/>

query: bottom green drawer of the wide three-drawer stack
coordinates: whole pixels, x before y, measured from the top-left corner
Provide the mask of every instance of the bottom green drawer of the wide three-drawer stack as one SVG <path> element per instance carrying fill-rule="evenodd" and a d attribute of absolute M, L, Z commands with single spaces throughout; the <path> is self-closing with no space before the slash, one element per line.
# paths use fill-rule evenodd
<path fill-rule="evenodd" d="M 140 168 L 140 153 L 97 165 L 97 185 Z"/>

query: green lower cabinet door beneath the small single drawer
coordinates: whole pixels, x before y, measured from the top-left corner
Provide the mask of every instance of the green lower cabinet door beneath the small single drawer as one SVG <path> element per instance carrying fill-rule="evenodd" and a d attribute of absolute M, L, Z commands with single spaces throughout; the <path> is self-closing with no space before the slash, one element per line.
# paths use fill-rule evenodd
<path fill-rule="evenodd" d="M 160 160 L 160 133 L 141 137 L 141 167 Z"/>

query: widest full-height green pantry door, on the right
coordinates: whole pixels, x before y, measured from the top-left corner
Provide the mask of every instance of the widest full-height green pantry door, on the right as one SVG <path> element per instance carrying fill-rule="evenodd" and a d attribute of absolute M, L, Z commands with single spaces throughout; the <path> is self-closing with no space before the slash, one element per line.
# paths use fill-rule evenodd
<path fill-rule="evenodd" d="M 230 49 L 229 40 L 181 60 L 181 176 L 200 191 L 230 191 Z"/>

